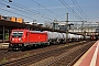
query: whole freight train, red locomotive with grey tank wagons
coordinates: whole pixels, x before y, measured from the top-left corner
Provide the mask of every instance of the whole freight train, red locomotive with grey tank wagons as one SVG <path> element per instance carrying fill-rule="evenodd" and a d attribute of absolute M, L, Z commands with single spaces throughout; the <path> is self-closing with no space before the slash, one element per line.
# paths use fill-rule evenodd
<path fill-rule="evenodd" d="M 66 43 L 66 33 L 51 32 L 51 31 L 30 31 L 25 29 L 12 30 L 10 34 L 10 50 L 24 50 L 30 46 L 52 45 Z M 87 40 L 90 36 L 86 36 Z M 81 41 L 82 35 L 68 33 L 68 42 Z"/>

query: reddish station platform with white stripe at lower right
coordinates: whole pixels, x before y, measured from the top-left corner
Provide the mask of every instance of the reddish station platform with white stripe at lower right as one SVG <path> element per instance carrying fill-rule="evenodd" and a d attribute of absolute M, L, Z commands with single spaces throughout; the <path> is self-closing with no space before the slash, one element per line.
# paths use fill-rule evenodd
<path fill-rule="evenodd" d="M 73 66 L 99 66 L 99 41 L 97 41 Z"/>

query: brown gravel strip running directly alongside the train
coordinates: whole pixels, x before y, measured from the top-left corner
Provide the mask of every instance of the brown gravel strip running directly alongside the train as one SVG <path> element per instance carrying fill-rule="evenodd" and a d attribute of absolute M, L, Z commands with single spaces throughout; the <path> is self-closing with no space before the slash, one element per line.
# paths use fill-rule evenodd
<path fill-rule="evenodd" d="M 84 42 L 69 43 L 69 45 L 72 45 L 72 44 L 78 44 L 78 43 L 84 43 Z M 43 47 L 43 48 L 42 47 L 38 47 L 38 48 L 37 47 L 33 47 L 33 50 L 29 50 L 29 51 L 25 51 L 25 52 L 21 52 L 21 51 L 16 51 L 16 52 L 12 52 L 12 51 L 10 51 L 10 52 L 8 52 L 8 51 L 0 51 L 0 62 L 3 59 L 3 57 L 6 57 L 8 61 L 18 59 L 20 57 L 24 57 L 25 55 L 44 53 L 46 51 L 55 50 L 55 48 L 61 48 L 63 46 L 64 46 L 64 44 L 52 45 L 52 46 L 47 46 L 47 47 Z"/>

